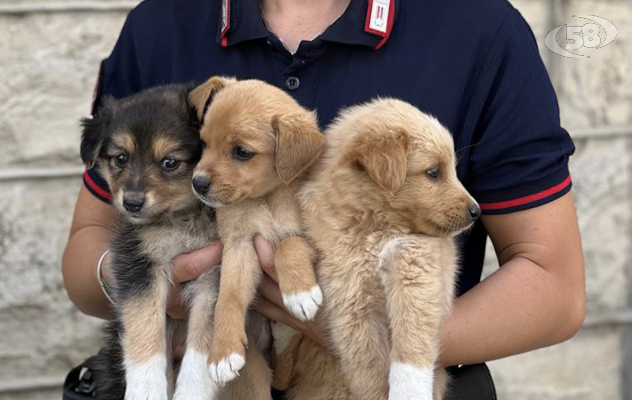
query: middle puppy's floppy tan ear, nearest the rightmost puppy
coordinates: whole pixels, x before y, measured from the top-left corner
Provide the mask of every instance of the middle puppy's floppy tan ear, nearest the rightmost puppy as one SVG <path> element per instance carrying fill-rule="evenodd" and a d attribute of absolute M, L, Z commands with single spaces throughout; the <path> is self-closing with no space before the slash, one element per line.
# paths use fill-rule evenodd
<path fill-rule="evenodd" d="M 272 118 L 276 135 L 275 163 L 277 174 L 288 184 L 318 159 L 325 149 L 325 137 L 316 115 L 302 111 Z"/>

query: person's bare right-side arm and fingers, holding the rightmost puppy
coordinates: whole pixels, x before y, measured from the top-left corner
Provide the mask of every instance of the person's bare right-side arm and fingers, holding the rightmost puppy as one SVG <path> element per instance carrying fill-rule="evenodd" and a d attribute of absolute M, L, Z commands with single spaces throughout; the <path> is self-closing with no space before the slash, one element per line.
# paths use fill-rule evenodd
<path fill-rule="evenodd" d="M 454 302 L 442 335 L 444 366 L 562 342 L 584 318 L 584 265 L 572 193 L 530 210 L 484 216 L 483 223 L 502 267 Z M 299 321 L 283 308 L 271 260 L 262 259 L 268 279 L 258 311 L 327 346 L 322 327 Z"/>

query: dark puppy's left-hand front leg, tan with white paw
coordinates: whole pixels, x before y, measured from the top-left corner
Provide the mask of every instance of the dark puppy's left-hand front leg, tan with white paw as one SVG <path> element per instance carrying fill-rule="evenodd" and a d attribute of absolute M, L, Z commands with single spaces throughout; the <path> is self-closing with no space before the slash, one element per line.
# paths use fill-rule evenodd
<path fill-rule="evenodd" d="M 125 400 L 168 398 L 167 287 L 167 278 L 157 272 L 142 293 L 121 299 Z"/>

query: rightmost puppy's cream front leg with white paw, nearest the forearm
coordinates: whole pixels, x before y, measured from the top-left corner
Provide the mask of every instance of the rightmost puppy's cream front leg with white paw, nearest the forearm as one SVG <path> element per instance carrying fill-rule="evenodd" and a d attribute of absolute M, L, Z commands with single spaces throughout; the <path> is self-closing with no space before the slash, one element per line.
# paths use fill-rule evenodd
<path fill-rule="evenodd" d="M 427 238 L 395 239 L 382 251 L 380 269 L 392 335 L 390 400 L 433 399 L 440 328 L 453 291 L 451 281 L 444 278 L 455 270 L 442 250 L 437 239 Z"/>

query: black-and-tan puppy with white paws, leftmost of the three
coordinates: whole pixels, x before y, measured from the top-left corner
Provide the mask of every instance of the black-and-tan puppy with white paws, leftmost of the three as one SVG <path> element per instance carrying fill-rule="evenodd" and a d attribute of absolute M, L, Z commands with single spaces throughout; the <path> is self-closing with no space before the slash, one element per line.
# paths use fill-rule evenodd
<path fill-rule="evenodd" d="M 96 371 L 99 399 L 172 398 L 177 371 L 171 343 L 184 334 L 187 351 L 175 399 L 270 398 L 265 388 L 271 374 L 256 352 L 252 368 L 232 387 L 220 391 L 210 379 L 204 355 L 212 342 L 218 268 L 183 285 L 188 327 L 166 315 L 172 259 L 218 237 L 215 211 L 190 187 L 202 142 L 188 93 L 165 86 L 106 99 L 94 118 L 83 120 L 81 157 L 88 166 L 99 162 L 122 217 L 111 244 L 116 318 L 106 328 Z"/>

